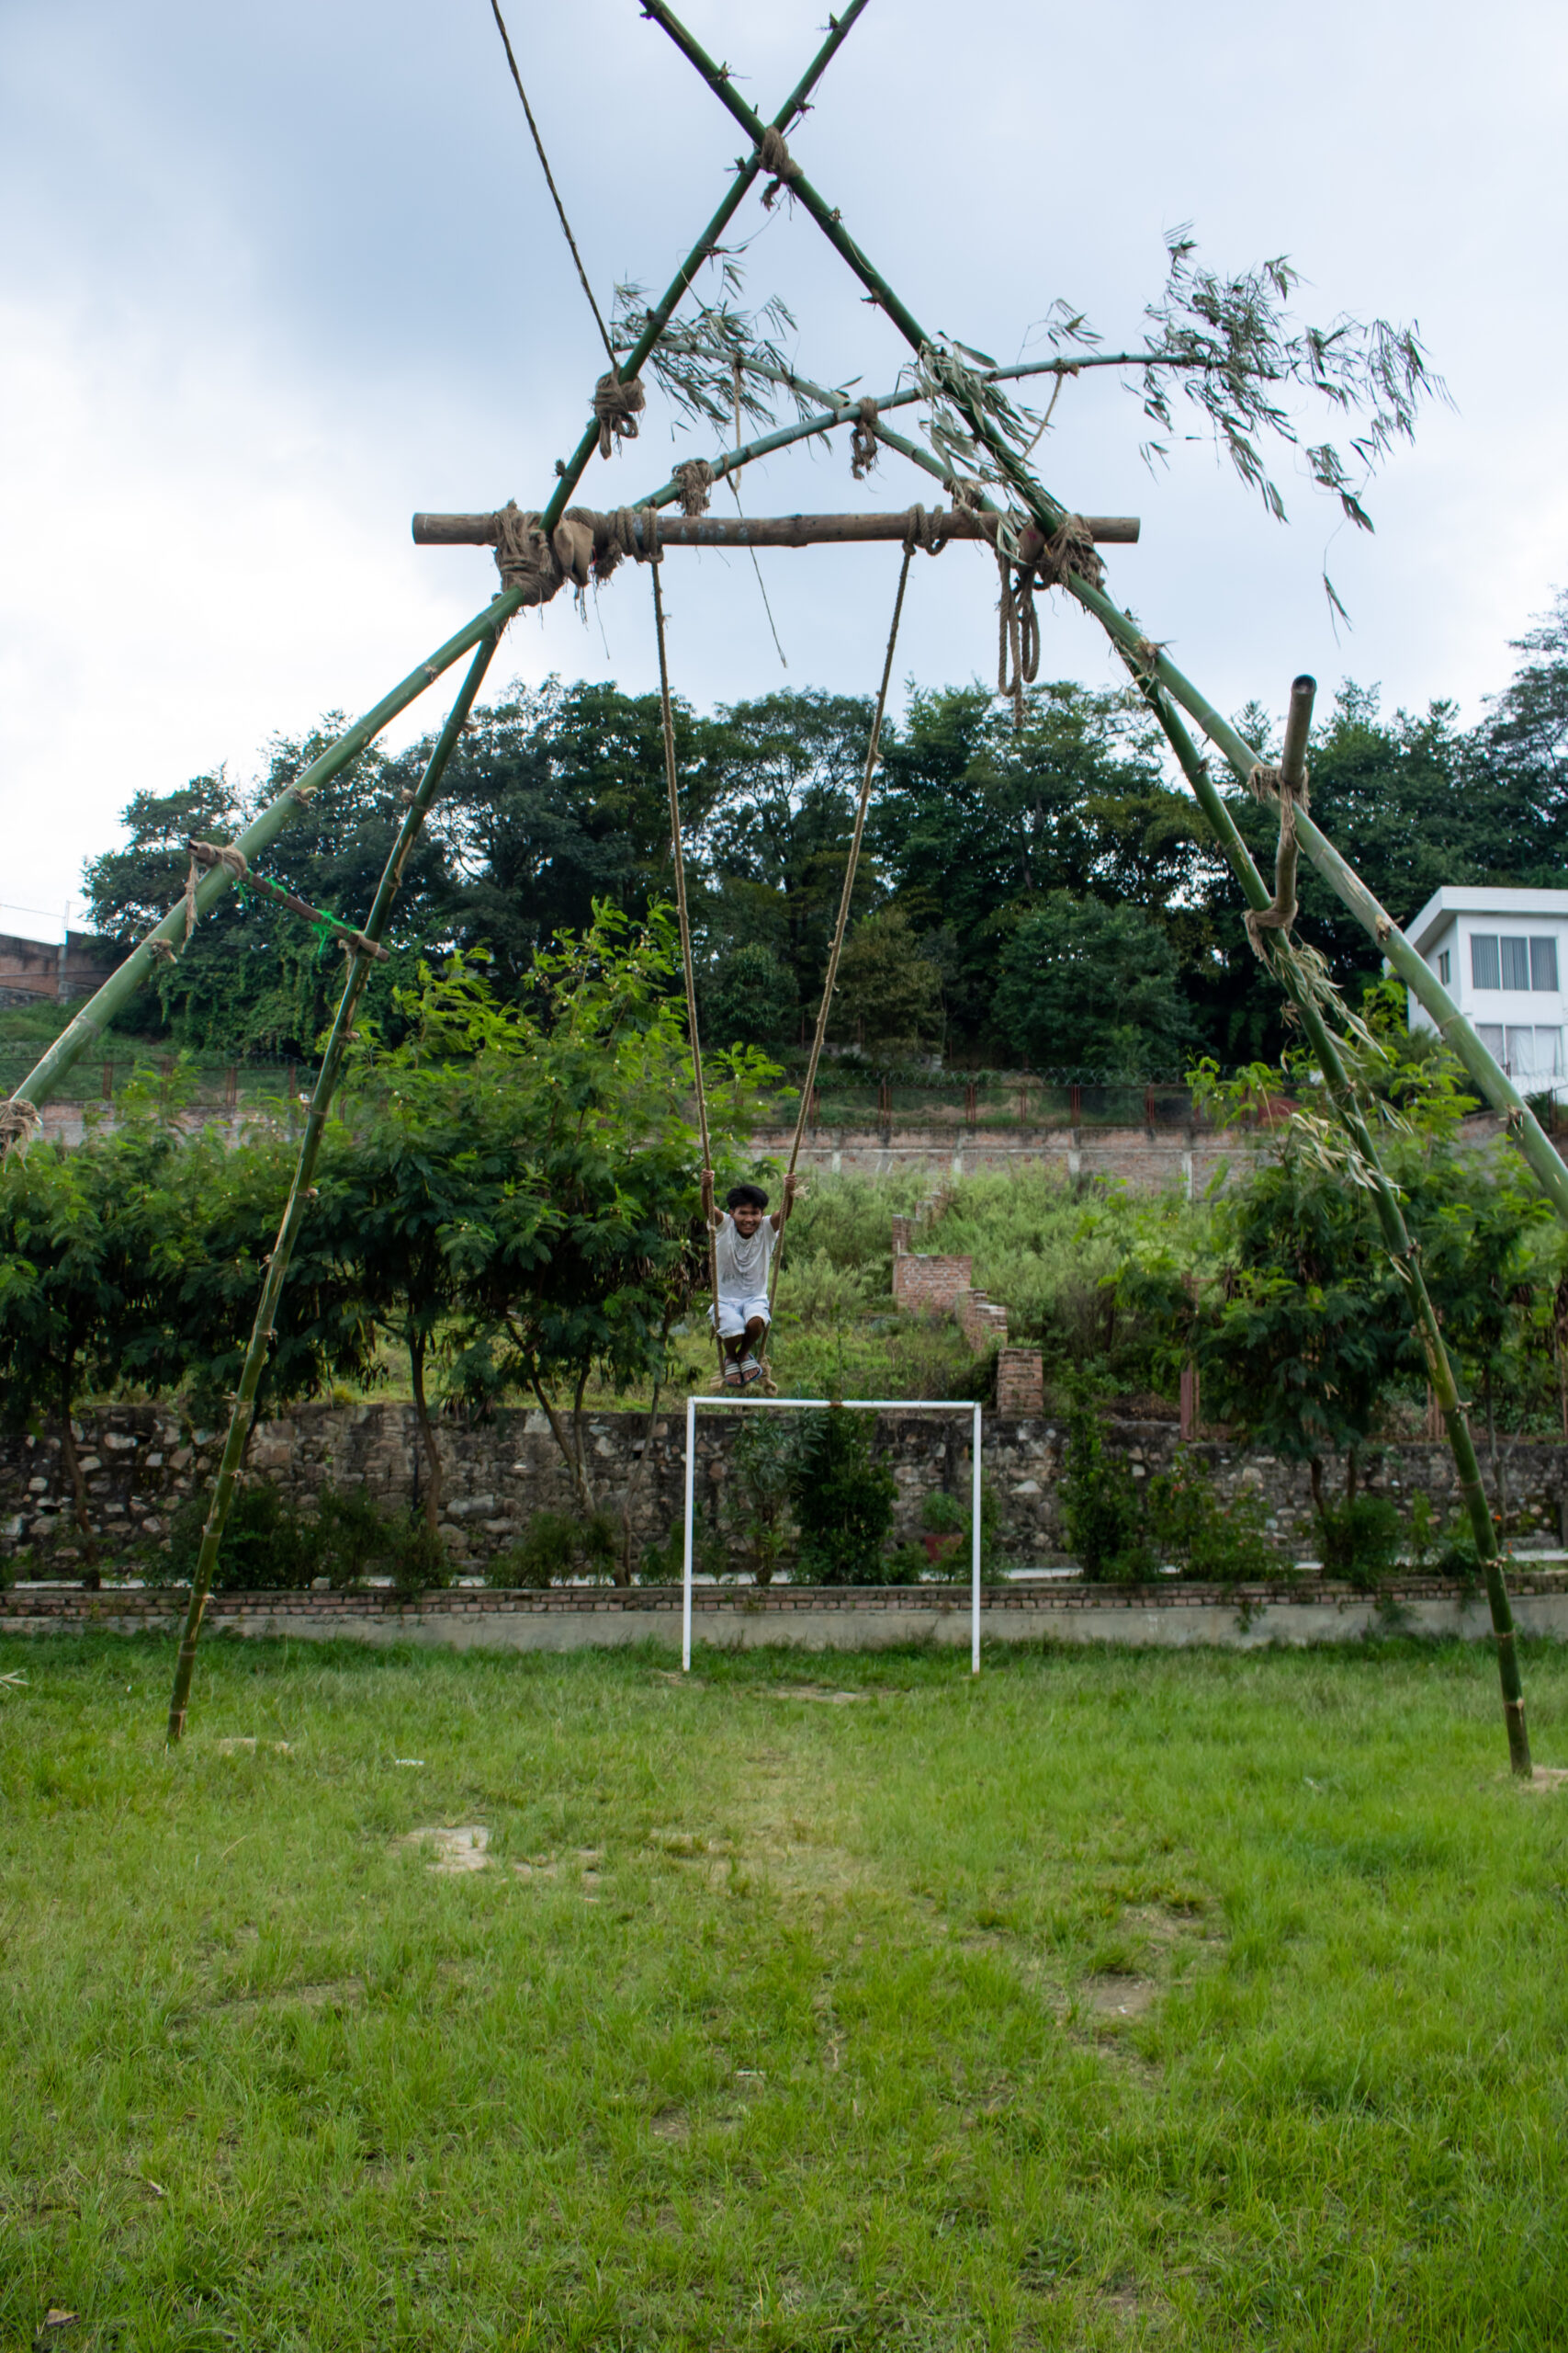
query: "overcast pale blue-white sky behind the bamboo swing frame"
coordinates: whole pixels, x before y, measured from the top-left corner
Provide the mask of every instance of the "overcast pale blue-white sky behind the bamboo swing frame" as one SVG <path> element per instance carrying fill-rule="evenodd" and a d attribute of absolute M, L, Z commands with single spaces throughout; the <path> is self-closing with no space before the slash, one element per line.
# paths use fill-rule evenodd
<path fill-rule="evenodd" d="M 823 19 L 686 7 L 762 113 Z M 602 301 L 663 287 L 736 127 L 635 0 L 510 0 L 508 21 Z M 47 936 L 19 908 L 80 889 L 134 791 L 252 774 L 273 729 L 376 701 L 489 598 L 489 555 L 416 551 L 409 513 L 543 504 L 602 358 L 487 0 L 5 0 L 0 89 L 0 929 Z M 875 0 L 792 144 L 914 313 L 999 358 L 1056 296 L 1133 344 L 1180 221 L 1218 268 L 1291 254 L 1307 315 L 1418 320 L 1455 409 L 1373 485 L 1375 539 L 1291 471 L 1272 525 L 1206 442 L 1152 480 L 1112 379 L 1065 388 L 1041 471 L 1143 515 L 1112 588 L 1220 708 L 1279 706 L 1312 668 L 1474 715 L 1568 581 L 1566 101 L 1549 0 Z M 806 374 L 891 386 L 903 346 L 804 214 L 780 205 L 748 271 L 795 308 Z M 656 409 L 581 496 L 637 499 L 670 454 Z M 893 459 L 858 487 L 837 449 L 755 468 L 745 501 L 931 487 Z M 893 574 L 889 548 L 773 555 L 783 673 L 750 562 L 675 555 L 677 687 L 870 692 Z M 1110 680 L 1060 605 L 1046 675 Z M 994 574 L 952 548 L 914 574 L 900 671 L 992 664 Z M 623 574 L 588 628 L 567 598 L 517 624 L 491 678 L 550 671 L 646 687 L 646 581 Z"/>

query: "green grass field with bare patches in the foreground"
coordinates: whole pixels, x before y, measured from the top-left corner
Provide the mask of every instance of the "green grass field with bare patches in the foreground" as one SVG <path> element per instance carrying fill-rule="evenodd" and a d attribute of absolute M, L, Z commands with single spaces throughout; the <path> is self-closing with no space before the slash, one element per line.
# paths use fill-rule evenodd
<path fill-rule="evenodd" d="M 1481 1647 L 169 1666 L 0 1645 L 7 2348 L 1563 2341 Z"/>

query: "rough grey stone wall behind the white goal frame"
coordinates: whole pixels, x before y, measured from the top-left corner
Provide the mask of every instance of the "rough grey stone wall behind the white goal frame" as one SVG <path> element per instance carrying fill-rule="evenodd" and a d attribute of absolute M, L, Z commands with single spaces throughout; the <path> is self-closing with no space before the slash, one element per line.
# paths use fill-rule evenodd
<path fill-rule="evenodd" d="M 698 1417 L 698 1511 L 717 1525 L 733 1414 Z M 216 1468 L 221 1433 L 193 1431 L 172 1412 L 120 1405 L 82 1414 L 80 1447 L 101 1565 L 155 1572 L 172 1513 L 197 1494 Z M 632 1487 L 635 1551 L 663 1541 L 679 1522 L 686 1419 L 677 1409 L 654 1424 L 646 1414 L 595 1414 L 588 1457 L 602 1506 L 621 1513 Z M 877 1417 L 877 1445 L 898 1482 L 898 1534 L 919 1527 L 922 1499 L 943 1487 L 969 1494 L 969 1417 L 900 1412 Z M 1175 1421 L 1112 1421 L 1112 1452 L 1126 1454 L 1133 1478 L 1166 1468 L 1180 1445 Z M 440 1428 L 447 1508 L 442 1532 L 456 1567 L 480 1569 L 515 1541 L 536 1511 L 571 1511 L 571 1485 L 538 1412 L 501 1412 L 468 1428 Z M 1060 1424 L 1044 1417 L 985 1417 L 985 1475 L 997 1501 L 997 1551 L 1016 1567 L 1063 1558 L 1058 1478 Z M 1288 1555 L 1312 1555 L 1312 1487 L 1305 1466 L 1244 1445 L 1199 1442 L 1192 1454 L 1222 1494 L 1255 1489 L 1269 1508 L 1272 1534 Z M 1556 1544 L 1568 1497 L 1568 1447 L 1542 1440 L 1502 1440 L 1509 1529 L 1521 1544 Z M 404 1405 L 308 1405 L 287 1421 L 256 1431 L 249 1466 L 275 1480 L 301 1506 L 327 1485 L 364 1485 L 386 1506 L 411 1504 L 418 1485 L 414 1409 Z M 1342 1466 L 1328 1464 L 1338 1492 Z M 1432 1497 L 1439 1518 L 1458 1506 L 1453 1457 L 1446 1445 L 1403 1440 L 1373 1449 L 1361 1485 L 1389 1494 L 1401 1513 L 1415 1492 Z M 59 1438 L 0 1440 L 0 1553 L 26 1551 L 31 1574 L 73 1574 L 78 1544 L 61 1478 Z"/>

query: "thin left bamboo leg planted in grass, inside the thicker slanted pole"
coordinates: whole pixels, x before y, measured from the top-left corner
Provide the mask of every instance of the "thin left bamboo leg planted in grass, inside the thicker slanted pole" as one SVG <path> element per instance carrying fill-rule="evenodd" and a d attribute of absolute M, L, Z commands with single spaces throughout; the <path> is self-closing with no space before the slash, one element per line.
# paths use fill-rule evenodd
<path fill-rule="evenodd" d="M 219 1480 L 212 1492 L 212 1506 L 207 1511 L 207 1525 L 202 1529 L 202 1551 L 190 1577 L 190 1605 L 186 1609 L 186 1628 L 179 1642 L 179 1659 L 174 1661 L 174 1689 L 169 1694 L 169 1746 L 174 1746 L 186 1729 L 186 1708 L 190 1704 L 190 1675 L 195 1671 L 195 1645 L 202 1633 L 202 1617 L 207 1614 L 207 1595 L 212 1593 L 212 1572 L 219 1562 L 219 1546 L 223 1544 L 223 1525 L 228 1520 L 228 1506 L 235 1499 L 235 1482 L 240 1478 L 240 1464 L 244 1461 L 244 1445 L 249 1440 L 252 1414 L 256 1407 L 256 1388 L 261 1386 L 261 1372 L 273 1344 L 273 1320 L 277 1315 L 277 1301 L 282 1287 L 289 1278 L 289 1261 L 294 1257 L 294 1242 L 299 1240 L 299 1228 L 306 1217 L 306 1205 L 310 1200 L 310 1179 L 315 1176 L 315 1162 L 322 1148 L 322 1134 L 327 1127 L 327 1113 L 331 1111 L 331 1096 L 336 1094 L 339 1073 L 343 1068 L 343 1056 L 348 1052 L 348 1040 L 353 1038 L 355 1007 L 364 993 L 364 981 L 369 967 L 376 958 L 381 934 L 386 932 L 388 918 L 393 913 L 393 899 L 402 885 L 404 868 L 418 833 L 425 824 L 430 802 L 435 800 L 435 788 L 442 781 L 442 769 L 451 758 L 454 746 L 463 734 L 463 720 L 473 711 L 475 694 L 484 680 L 491 664 L 491 654 L 501 642 L 501 628 L 496 626 L 489 638 L 482 640 L 458 699 L 454 701 L 447 725 L 442 727 L 435 751 L 425 762 L 425 772 L 418 779 L 418 791 L 404 809 L 402 826 L 397 828 L 397 840 L 393 842 L 393 854 L 386 861 L 381 882 L 376 885 L 376 899 L 369 915 L 364 918 L 364 934 L 350 948 L 348 979 L 343 981 L 343 995 L 339 998 L 339 1009 L 331 1024 L 331 1035 L 327 1038 L 327 1052 L 322 1056 L 322 1071 L 315 1080 L 310 1094 L 310 1111 L 306 1115 L 306 1132 L 299 1144 L 299 1160 L 294 1165 L 294 1184 L 289 1186 L 289 1198 L 284 1202 L 282 1221 L 277 1226 L 277 1242 L 268 1259 L 266 1282 L 261 1285 L 261 1299 L 256 1304 L 256 1320 L 252 1322 L 249 1346 L 244 1351 L 244 1367 L 240 1372 L 240 1388 L 235 1391 L 235 1402 L 228 1417 L 228 1438 L 223 1440 L 223 1461 L 219 1466 Z"/>

